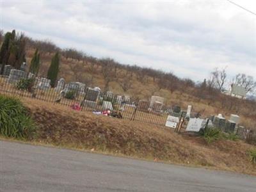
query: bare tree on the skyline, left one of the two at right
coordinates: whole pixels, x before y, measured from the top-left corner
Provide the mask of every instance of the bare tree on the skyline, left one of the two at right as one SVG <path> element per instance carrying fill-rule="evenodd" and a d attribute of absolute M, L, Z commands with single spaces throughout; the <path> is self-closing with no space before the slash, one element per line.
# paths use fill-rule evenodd
<path fill-rule="evenodd" d="M 214 71 L 211 72 L 211 80 L 214 88 L 218 89 L 220 92 L 224 91 L 224 85 L 227 81 L 227 72 L 226 69 L 223 68 L 219 70 L 215 68 Z"/>

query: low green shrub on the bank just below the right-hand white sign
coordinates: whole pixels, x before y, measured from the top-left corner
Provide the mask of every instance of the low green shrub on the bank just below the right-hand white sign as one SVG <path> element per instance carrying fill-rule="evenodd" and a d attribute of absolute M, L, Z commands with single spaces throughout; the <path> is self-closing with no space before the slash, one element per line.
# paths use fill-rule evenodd
<path fill-rule="evenodd" d="M 205 128 L 201 132 L 201 134 L 207 143 L 212 143 L 212 141 L 220 140 L 223 135 L 220 129 L 215 129 L 213 127 Z"/>

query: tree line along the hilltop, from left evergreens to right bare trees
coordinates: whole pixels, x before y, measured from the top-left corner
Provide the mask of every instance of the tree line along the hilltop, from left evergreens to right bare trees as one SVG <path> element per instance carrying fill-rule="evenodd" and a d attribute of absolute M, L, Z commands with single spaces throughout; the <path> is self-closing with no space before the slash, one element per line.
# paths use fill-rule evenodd
<path fill-rule="evenodd" d="M 55 84 L 56 78 L 58 76 L 60 56 L 63 56 L 66 59 L 83 61 L 83 63 L 90 63 L 89 68 L 92 75 L 93 72 L 95 72 L 95 65 L 99 65 L 102 68 L 101 73 L 105 81 L 104 86 L 106 90 L 108 90 L 108 86 L 111 81 L 118 80 L 118 83 L 123 88 L 124 92 L 126 92 L 127 90 L 129 90 L 129 88 L 131 88 L 132 77 L 136 77 L 137 81 L 144 84 L 147 83 L 147 78 L 150 77 L 157 84 L 159 90 L 167 89 L 170 90 L 170 92 L 180 90 L 182 92 L 191 93 L 189 88 L 198 90 L 198 92 L 204 89 L 206 95 L 211 95 L 213 92 L 225 92 L 225 90 L 227 90 L 228 88 L 227 84 L 230 83 L 228 82 L 230 80 L 228 80 L 227 78 L 226 68 L 215 68 L 214 70 L 212 70 L 208 79 L 204 79 L 204 81 L 202 82 L 195 83 L 191 79 L 181 79 L 175 76 L 172 72 L 163 72 L 161 70 L 154 70 L 152 68 L 138 67 L 138 65 L 122 65 L 111 58 L 95 58 L 93 56 L 88 56 L 83 51 L 77 51 L 74 48 L 60 49 L 60 47 L 57 47 L 50 40 L 33 40 L 32 38 L 29 38 L 28 36 L 24 36 L 22 34 L 17 35 L 17 37 L 14 38 L 15 35 L 13 36 L 13 33 L 15 34 L 15 31 L 12 33 L 7 32 L 3 36 L 3 31 L 0 31 L 0 42 L 3 41 L 0 51 L 0 63 L 9 62 L 9 65 L 13 65 L 13 67 L 16 66 L 16 68 L 19 68 L 20 61 L 26 60 L 26 52 L 24 46 L 27 45 L 28 47 L 36 49 L 35 55 L 31 60 L 29 71 L 33 72 L 34 74 L 38 74 L 38 68 L 40 65 L 40 53 L 38 50 L 40 50 L 40 52 L 44 54 L 52 54 L 55 52 L 56 55 L 54 56 L 54 58 L 52 58 L 51 66 L 49 67 L 49 70 L 47 72 L 47 77 L 52 80 L 52 84 Z M 12 43 L 13 39 L 15 39 L 16 43 Z M 24 43 L 21 44 L 21 42 Z M 10 47 L 13 47 L 12 44 L 18 45 L 18 47 L 20 45 L 20 49 L 15 49 L 16 53 L 15 51 L 13 51 L 12 57 L 10 58 L 9 52 L 11 51 Z M 15 55 L 16 57 L 13 57 L 13 55 Z M 23 59 L 21 57 L 22 55 Z M 17 59 L 17 61 L 13 61 L 14 58 L 19 59 Z M 16 65 L 13 64 L 15 62 L 17 63 Z M 55 62 L 57 62 L 58 64 L 54 64 Z M 3 67 L 4 66 L 2 65 L 1 70 L 3 70 Z M 80 69 L 77 70 L 79 71 Z M 118 79 L 118 74 L 120 74 L 120 70 L 125 70 L 126 74 L 120 75 L 121 78 Z M 92 79 L 89 79 L 88 81 L 92 81 Z M 237 74 L 232 79 L 231 83 L 243 86 L 246 89 L 246 93 L 255 92 L 256 82 L 254 81 L 252 76 L 246 76 L 246 74 Z M 207 92 L 205 90 L 207 90 Z"/>

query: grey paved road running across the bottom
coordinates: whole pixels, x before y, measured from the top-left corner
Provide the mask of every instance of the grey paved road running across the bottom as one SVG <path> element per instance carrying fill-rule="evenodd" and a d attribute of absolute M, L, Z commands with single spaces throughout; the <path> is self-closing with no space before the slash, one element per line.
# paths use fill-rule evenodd
<path fill-rule="evenodd" d="M 256 177 L 0 141 L 0 191 L 256 191 Z"/>

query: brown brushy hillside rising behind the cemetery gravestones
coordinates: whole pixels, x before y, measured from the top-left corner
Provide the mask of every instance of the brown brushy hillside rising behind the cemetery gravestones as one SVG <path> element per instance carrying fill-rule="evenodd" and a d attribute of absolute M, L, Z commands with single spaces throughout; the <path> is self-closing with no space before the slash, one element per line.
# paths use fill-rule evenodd
<path fill-rule="evenodd" d="M 34 52 L 35 48 L 27 47 L 28 63 Z M 46 76 L 52 56 L 51 52 L 41 52 L 40 76 Z M 256 119 L 256 104 L 253 101 L 236 99 L 215 91 L 197 88 L 189 81 L 186 84 L 186 80 L 185 83 L 175 81 L 173 87 L 164 88 L 160 82 L 164 79 L 142 74 L 140 70 L 108 64 L 100 63 L 97 60 L 79 61 L 61 56 L 59 78 L 64 77 L 66 82 L 80 81 L 86 86 L 99 86 L 102 90 L 130 95 L 136 99 L 149 100 L 152 95 L 158 95 L 164 97 L 165 104 L 168 106 L 179 105 L 186 109 L 188 104 L 191 104 L 193 110 L 200 112 L 203 116 L 221 113 L 228 118 L 231 113 L 234 113 L 241 116 L 241 124 L 245 127 L 251 129 L 256 127 L 254 121 Z"/>

